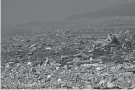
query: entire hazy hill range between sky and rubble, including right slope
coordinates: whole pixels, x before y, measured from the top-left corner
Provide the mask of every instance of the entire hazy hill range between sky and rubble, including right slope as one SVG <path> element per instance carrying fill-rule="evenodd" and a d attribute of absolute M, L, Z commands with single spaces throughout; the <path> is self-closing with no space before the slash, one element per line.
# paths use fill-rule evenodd
<path fill-rule="evenodd" d="M 119 16 L 118 18 L 116 16 Z M 131 18 L 130 16 L 133 16 Z M 122 29 L 119 27 L 135 26 L 135 2 L 124 3 L 113 7 L 102 9 L 93 13 L 84 13 L 67 17 L 64 21 L 58 22 L 27 22 L 20 25 L 7 25 L 1 27 L 2 37 L 14 36 L 21 32 L 31 32 L 35 30 L 55 30 L 61 28 L 90 28 Z M 94 19 L 95 18 L 95 19 Z M 82 20 L 82 21 L 81 21 Z M 86 21 L 83 21 L 86 20 Z M 89 21 L 90 20 L 90 21 Z M 98 22 L 93 22 L 97 20 Z"/>

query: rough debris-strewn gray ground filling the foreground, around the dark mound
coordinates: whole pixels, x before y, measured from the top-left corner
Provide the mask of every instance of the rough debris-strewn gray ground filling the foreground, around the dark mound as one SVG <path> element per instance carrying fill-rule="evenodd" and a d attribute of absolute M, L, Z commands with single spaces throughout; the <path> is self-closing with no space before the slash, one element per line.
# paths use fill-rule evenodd
<path fill-rule="evenodd" d="M 135 88 L 134 27 L 119 24 L 117 26 L 123 31 L 119 35 L 121 46 L 125 43 L 125 38 L 132 36 L 132 47 L 113 48 L 114 51 L 111 52 L 108 46 L 105 46 L 90 52 L 99 39 L 102 44 L 108 45 L 109 42 L 104 41 L 108 33 L 102 31 L 114 30 L 115 26 L 117 25 L 113 28 L 100 28 L 98 33 L 95 28 L 61 29 L 50 33 L 32 32 L 3 38 L 2 88 Z M 125 33 L 127 29 L 129 33 Z M 93 34 L 96 37 L 92 37 Z"/>

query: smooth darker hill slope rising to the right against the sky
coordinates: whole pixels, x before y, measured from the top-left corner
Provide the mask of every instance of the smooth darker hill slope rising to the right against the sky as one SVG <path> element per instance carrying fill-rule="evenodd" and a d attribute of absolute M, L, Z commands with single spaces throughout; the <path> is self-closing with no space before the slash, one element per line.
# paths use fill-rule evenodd
<path fill-rule="evenodd" d="M 84 14 L 72 15 L 66 20 L 78 20 L 84 18 L 101 18 L 112 16 L 135 16 L 135 2 L 118 4 L 113 7 L 98 10 L 96 12 L 87 12 Z"/>

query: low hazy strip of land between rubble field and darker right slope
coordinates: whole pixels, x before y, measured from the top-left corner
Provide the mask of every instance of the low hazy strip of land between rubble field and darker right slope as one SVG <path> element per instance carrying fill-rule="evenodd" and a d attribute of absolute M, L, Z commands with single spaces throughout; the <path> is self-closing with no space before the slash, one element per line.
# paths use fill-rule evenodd
<path fill-rule="evenodd" d="M 42 22 L 29 22 L 20 25 L 9 25 L 1 28 L 2 37 L 5 36 L 14 36 L 18 33 L 23 32 L 31 32 L 33 29 L 36 31 L 45 30 L 45 31 L 53 31 L 56 29 L 62 28 L 70 28 L 70 29 L 80 29 L 89 31 L 91 33 L 92 30 L 123 30 L 127 28 L 135 28 L 135 17 L 129 16 L 120 16 L 120 17 L 109 17 L 109 18 L 102 18 L 98 19 L 98 21 L 89 20 L 65 20 L 61 22 L 49 22 L 49 23 L 42 23 Z M 89 25 L 89 29 L 88 29 Z M 92 34 L 92 33 L 91 33 Z"/>

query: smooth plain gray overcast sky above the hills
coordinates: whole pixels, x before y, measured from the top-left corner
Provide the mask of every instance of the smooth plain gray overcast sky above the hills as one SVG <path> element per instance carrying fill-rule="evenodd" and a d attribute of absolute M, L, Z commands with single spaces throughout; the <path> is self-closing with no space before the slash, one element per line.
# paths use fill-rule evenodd
<path fill-rule="evenodd" d="M 72 14 L 93 12 L 125 1 L 127 0 L 1 0 L 2 25 L 63 20 Z"/>

